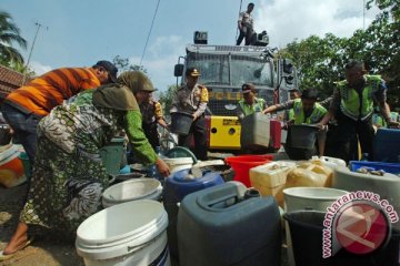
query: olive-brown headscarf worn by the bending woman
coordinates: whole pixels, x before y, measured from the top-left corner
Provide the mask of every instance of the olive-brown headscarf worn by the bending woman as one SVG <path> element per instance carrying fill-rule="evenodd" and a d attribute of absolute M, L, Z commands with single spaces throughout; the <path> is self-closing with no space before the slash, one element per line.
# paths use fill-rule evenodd
<path fill-rule="evenodd" d="M 118 76 L 117 84 L 99 86 L 93 92 L 93 104 L 122 111 L 139 111 L 133 93 L 154 91 L 149 78 L 140 71 L 126 71 Z"/>

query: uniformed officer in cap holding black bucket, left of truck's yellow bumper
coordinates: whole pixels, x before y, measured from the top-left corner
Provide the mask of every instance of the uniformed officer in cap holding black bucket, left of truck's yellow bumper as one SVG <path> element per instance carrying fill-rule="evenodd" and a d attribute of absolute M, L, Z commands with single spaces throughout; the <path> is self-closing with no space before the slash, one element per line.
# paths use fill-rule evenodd
<path fill-rule="evenodd" d="M 204 111 L 207 108 L 208 90 L 198 84 L 200 72 L 196 68 L 186 71 L 186 85 L 179 88 L 172 99 L 171 113 L 186 112 L 193 117 L 188 135 L 179 135 L 180 146 L 190 146 L 191 135 L 194 137 L 194 154 L 199 160 L 207 160 L 207 130 Z"/>

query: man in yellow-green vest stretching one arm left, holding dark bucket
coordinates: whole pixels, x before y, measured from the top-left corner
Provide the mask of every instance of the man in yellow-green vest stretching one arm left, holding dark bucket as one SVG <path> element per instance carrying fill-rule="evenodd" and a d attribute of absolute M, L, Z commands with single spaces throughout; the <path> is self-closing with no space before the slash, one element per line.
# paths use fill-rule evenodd
<path fill-rule="evenodd" d="M 328 112 L 321 104 L 317 102 L 318 91 L 314 89 L 304 90 L 300 99 L 294 99 L 286 103 L 269 106 L 263 111 L 264 114 L 272 113 L 281 110 L 293 110 L 294 124 L 317 124 Z M 318 154 L 320 156 L 324 153 L 324 143 L 327 139 L 326 130 L 318 134 Z M 290 145 L 289 143 L 287 143 Z"/>

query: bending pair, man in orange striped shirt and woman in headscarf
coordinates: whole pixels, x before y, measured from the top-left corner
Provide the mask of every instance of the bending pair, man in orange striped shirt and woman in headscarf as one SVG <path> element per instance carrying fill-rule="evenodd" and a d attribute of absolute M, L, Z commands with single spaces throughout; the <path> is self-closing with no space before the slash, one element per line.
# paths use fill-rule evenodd
<path fill-rule="evenodd" d="M 0 252 L 0 262 L 31 243 L 31 225 L 74 237 L 79 224 L 101 208 L 110 176 L 100 149 L 121 131 L 141 163 L 154 164 L 161 175 L 170 175 L 142 129 L 140 106 L 154 91 L 151 81 L 140 71 L 118 78 L 117 72 L 108 61 L 88 69 L 57 69 L 3 101 L 4 119 L 33 170 L 19 224 Z"/>

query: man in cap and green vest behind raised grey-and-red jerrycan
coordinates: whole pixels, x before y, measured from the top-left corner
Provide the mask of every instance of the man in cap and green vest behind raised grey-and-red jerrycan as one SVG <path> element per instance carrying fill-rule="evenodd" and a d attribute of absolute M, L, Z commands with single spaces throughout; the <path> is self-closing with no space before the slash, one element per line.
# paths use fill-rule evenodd
<path fill-rule="evenodd" d="M 244 83 L 242 85 L 243 99 L 238 103 L 238 117 L 242 121 L 244 116 L 262 112 L 267 108 L 266 100 L 256 98 L 256 86 L 252 83 Z"/>

